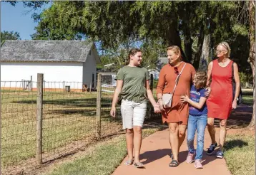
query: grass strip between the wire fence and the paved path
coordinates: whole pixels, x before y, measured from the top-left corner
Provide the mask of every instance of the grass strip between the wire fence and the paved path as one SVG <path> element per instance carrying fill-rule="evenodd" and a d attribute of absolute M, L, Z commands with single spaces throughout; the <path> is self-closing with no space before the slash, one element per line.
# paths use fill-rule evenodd
<path fill-rule="evenodd" d="M 157 127 L 154 129 L 143 129 L 143 137 L 147 137 L 154 132 L 162 129 Z M 92 152 L 84 155 L 72 162 L 57 166 L 50 175 L 107 175 L 119 166 L 122 159 L 127 155 L 125 136 L 121 135 L 95 147 Z"/>

